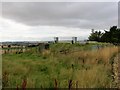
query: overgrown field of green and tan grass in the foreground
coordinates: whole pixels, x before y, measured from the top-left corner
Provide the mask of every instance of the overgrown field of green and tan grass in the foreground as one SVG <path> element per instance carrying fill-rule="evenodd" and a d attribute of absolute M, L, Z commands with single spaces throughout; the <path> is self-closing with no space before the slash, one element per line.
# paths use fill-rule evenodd
<path fill-rule="evenodd" d="M 118 48 L 96 44 L 51 44 L 41 53 L 3 54 L 3 87 L 113 87 L 112 60 Z M 24 86 L 24 83 L 26 85 Z"/>

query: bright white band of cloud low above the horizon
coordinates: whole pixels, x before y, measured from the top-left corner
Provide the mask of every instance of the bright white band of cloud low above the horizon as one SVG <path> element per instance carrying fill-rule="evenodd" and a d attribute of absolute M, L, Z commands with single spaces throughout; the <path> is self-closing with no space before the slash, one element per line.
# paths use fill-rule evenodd
<path fill-rule="evenodd" d="M 44 41 L 53 40 L 53 37 L 71 39 L 77 36 L 80 39 L 87 39 L 90 30 L 79 28 L 67 28 L 62 26 L 27 26 L 16 23 L 12 20 L 0 18 L 0 41 Z M 84 33 L 84 31 L 86 31 Z"/>

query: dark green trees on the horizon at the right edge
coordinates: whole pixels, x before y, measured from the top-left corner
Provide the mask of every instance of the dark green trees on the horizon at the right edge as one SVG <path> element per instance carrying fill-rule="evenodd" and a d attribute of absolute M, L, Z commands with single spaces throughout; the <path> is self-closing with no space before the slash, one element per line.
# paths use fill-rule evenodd
<path fill-rule="evenodd" d="M 104 33 L 100 30 L 95 31 L 92 29 L 92 32 L 88 39 L 90 41 L 120 44 L 120 28 L 117 28 L 117 26 L 112 26 L 110 27 L 109 31 L 104 30 Z"/>

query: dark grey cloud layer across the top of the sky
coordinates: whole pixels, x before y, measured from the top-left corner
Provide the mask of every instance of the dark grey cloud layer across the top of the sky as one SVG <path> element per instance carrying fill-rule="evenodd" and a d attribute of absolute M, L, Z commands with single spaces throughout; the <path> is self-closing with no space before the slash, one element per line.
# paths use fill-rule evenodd
<path fill-rule="evenodd" d="M 4 18 L 30 26 L 104 29 L 117 25 L 117 2 L 4 2 Z"/>

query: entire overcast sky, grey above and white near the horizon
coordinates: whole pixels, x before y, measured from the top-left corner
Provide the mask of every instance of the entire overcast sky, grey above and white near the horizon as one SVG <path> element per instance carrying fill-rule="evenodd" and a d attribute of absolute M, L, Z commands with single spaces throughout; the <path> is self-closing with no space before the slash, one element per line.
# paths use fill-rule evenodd
<path fill-rule="evenodd" d="M 87 39 L 118 23 L 117 2 L 2 2 L 0 41 Z"/>

